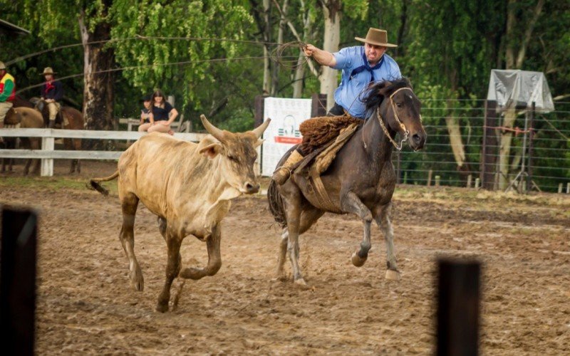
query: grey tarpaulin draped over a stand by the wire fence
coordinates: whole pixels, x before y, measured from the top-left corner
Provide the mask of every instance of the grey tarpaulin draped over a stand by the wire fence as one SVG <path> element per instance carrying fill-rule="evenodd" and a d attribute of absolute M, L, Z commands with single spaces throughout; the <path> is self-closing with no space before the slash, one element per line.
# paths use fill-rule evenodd
<path fill-rule="evenodd" d="M 536 110 L 554 110 L 552 95 L 542 72 L 491 70 L 487 100 L 496 100 L 500 110 L 532 108 L 533 101 Z"/>

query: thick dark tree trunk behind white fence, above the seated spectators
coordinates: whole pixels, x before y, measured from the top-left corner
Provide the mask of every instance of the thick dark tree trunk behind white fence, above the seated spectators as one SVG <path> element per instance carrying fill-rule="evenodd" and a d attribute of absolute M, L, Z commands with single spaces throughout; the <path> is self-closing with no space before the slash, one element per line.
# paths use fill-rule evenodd
<path fill-rule="evenodd" d="M 105 48 L 105 43 L 91 43 L 110 39 L 110 24 L 99 23 L 93 32 L 86 26 L 86 14 L 81 12 L 79 27 L 84 53 L 83 116 L 89 130 L 113 129 L 113 73 L 100 71 L 113 68 L 115 53 L 113 48 Z"/>

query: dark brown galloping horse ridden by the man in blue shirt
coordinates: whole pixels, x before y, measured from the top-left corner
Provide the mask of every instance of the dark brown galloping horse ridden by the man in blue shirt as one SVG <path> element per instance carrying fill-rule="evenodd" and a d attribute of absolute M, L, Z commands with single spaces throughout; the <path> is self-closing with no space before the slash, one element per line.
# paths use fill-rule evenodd
<path fill-rule="evenodd" d="M 285 184 L 269 184 L 267 198 L 271 214 L 283 227 L 277 278 L 284 278 L 284 261 L 289 253 L 295 283 L 306 285 L 299 267 L 299 234 L 307 231 L 326 211 L 335 214 L 356 214 L 364 227 L 361 248 L 353 253 L 352 263 L 360 267 L 371 249 L 371 222 L 383 231 L 387 248 L 386 278 L 398 279 L 393 246 L 393 229 L 390 206 L 395 188 L 392 164 L 393 147 L 401 149 L 408 140 L 413 150 L 425 145 L 426 134 L 420 117 L 420 100 L 415 96 L 407 79 L 383 82 L 370 88 L 364 103 L 368 117 L 364 124 L 346 142 L 331 166 L 321 175 L 322 184 L 331 205 L 324 206 L 316 199 L 310 178 L 303 172 L 294 172 Z M 400 147 L 394 138 L 403 135 Z M 281 166 L 289 157 L 281 158 Z"/>

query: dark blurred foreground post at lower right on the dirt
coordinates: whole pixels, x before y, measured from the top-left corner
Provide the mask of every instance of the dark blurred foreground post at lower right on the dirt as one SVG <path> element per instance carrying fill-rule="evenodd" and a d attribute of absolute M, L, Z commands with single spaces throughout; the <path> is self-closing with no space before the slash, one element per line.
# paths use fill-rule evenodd
<path fill-rule="evenodd" d="M 437 355 L 478 355 L 480 263 L 440 259 L 437 267 Z"/>

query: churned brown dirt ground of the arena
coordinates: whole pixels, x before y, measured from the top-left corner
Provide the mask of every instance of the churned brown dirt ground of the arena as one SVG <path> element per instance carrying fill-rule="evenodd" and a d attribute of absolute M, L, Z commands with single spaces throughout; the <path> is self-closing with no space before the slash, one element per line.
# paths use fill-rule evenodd
<path fill-rule="evenodd" d="M 376 226 L 368 261 L 356 268 L 350 258 L 361 242 L 361 223 L 326 214 L 301 236 L 306 289 L 273 280 L 279 229 L 265 197 L 239 198 L 222 223 L 220 271 L 184 285 L 175 281 L 177 308 L 161 314 L 154 307 L 166 248 L 155 216 L 140 206 L 135 253 L 145 290 L 135 292 L 118 241 L 118 197 L 81 189 L 87 177 L 114 167 L 84 162 L 71 188 L 53 185 L 56 178 L 19 185 L 16 173 L 0 176 L 1 203 L 41 210 L 38 355 L 430 354 L 438 256 L 483 263 L 483 355 L 570 354 L 567 195 L 397 189 L 398 282 L 384 279 L 385 246 Z M 56 174 L 67 169 L 58 162 Z M 182 259 L 204 265 L 205 244 L 189 236 Z M 289 261 L 286 268 L 290 273 Z"/>

